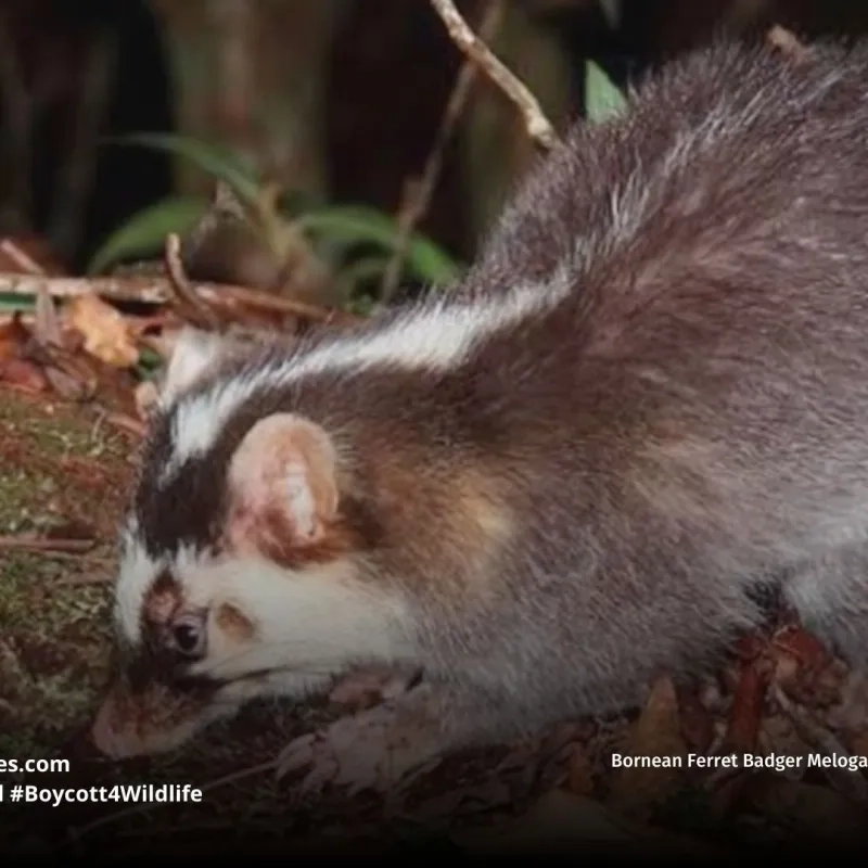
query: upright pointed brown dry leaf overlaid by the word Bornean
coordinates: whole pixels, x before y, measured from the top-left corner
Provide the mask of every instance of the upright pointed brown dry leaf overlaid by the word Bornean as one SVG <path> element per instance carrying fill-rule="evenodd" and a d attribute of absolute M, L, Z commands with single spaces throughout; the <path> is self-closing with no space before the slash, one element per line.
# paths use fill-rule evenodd
<path fill-rule="evenodd" d="M 624 752 L 634 757 L 684 757 L 675 686 L 661 678 L 651 691 L 639 719 L 633 727 Z M 678 786 L 677 768 L 616 768 L 612 777 L 610 802 L 631 816 L 648 816 Z"/>

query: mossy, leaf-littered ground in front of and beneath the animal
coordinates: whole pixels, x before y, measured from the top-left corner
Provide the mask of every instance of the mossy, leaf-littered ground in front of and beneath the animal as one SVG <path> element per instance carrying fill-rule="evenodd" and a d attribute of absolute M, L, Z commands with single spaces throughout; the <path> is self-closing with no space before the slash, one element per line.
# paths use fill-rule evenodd
<path fill-rule="evenodd" d="M 110 845 L 199 853 L 203 840 L 250 833 L 297 852 L 665 852 L 690 858 L 752 845 L 866 842 L 865 770 L 808 768 L 808 756 L 868 755 L 864 682 L 810 636 L 781 621 L 745 638 L 718 676 L 693 691 L 661 679 L 643 709 L 577 722 L 538 740 L 444 761 L 399 799 L 339 788 L 302 799 L 266 766 L 291 738 L 375 697 L 268 705 L 213 727 L 163 757 L 110 762 L 88 727 L 107 676 L 115 529 L 139 436 L 105 409 L 0 384 L 0 756 L 64 757 L 40 787 L 190 783 L 202 803 L 12 805 L 0 839 L 25 852 Z M 34 550 L 20 545 L 37 540 Z M 54 550 L 64 540 L 66 550 Z M 580 662 L 577 663 L 580 665 Z M 613 752 L 802 757 L 769 768 L 613 769 Z M 743 766 L 743 764 L 739 764 Z M 7 776 L 9 786 L 21 780 Z M 248 835 L 244 837 L 248 840 Z M 331 842 L 331 843 L 330 843 Z M 226 846 L 220 843 L 219 846 Z"/>

